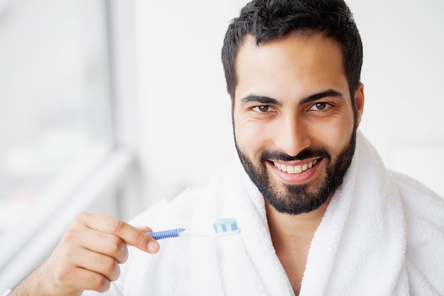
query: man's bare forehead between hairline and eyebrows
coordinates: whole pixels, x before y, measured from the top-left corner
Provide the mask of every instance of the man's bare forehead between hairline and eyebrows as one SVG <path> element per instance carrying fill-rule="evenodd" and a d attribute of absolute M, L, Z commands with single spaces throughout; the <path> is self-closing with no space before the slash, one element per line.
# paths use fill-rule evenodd
<path fill-rule="evenodd" d="M 260 45 L 247 35 L 235 66 L 236 98 L 251 93 L 297 98 L 325 89 L 348 94 L 340 45 L 321 33 L 294 33 Z"/>

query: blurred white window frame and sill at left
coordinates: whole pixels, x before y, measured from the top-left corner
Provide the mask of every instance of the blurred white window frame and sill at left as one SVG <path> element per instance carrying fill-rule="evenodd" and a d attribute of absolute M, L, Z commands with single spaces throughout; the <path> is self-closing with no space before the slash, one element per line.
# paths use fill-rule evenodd
<path fill-rule="evenodd" d="M 128 220 L 145 206 L 138 165 L 138 96 L 133 0 L 102 0 L 109 56 L 113 145 L 55 187 L 61 202 L 28 232 L 11 237 L 0 258 L 0 291 L 13 287 L 47 258 L 72 218 L 82 211 Z"/>

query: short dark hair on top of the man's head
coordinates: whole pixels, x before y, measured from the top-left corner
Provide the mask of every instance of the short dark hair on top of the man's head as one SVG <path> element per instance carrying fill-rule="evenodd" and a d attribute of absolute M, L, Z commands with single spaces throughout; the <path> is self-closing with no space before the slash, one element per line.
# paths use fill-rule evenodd
<path fill-rule="evenodd" d="M 231 21 L 223 40 L 222 63 L 232 100 L 237 83 L 235 58 L 245 35 L 255 36 L 260 45 L 294 31 L 321 32 L 338 42 L 353 98 L 360 83 L 362 42 L 353 15 L 343 0 L 253 0 Z M 355 108 L 355 100 L 352 102 Z"/>

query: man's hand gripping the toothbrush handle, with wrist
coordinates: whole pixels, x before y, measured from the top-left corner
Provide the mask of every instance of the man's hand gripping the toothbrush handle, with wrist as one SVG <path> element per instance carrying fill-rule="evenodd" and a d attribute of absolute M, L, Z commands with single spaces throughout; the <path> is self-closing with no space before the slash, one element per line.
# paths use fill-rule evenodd
<path fill-rule="evenodd" d="M 101 214 L 74 218 L 50 258 L 11 292 L 24 295 L 81 295 L 83 290 L 105 292 L 120 275 L 119 263 L 128 258 L 128 245 L 156 253 L 159 244 L 148 227 L 137 229 Z"/>

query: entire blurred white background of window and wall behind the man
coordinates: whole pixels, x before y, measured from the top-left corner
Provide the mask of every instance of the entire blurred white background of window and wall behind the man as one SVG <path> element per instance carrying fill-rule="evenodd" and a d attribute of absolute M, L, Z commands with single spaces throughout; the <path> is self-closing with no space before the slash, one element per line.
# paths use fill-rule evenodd
<path fill-rule="evenodd" d="M 128 220 L 233 154 L 220 50 L 245 0 L 0 0 L 0 292 L 72 217 Z M 444 2 L 349 0 L 361 130 L 444 196 Z"/>

